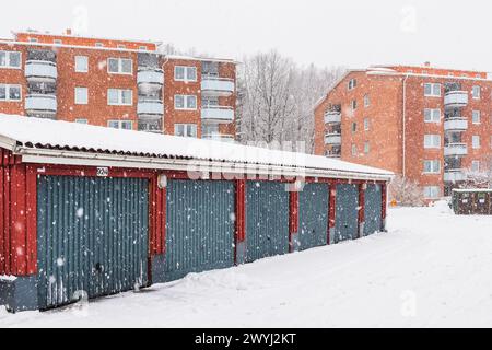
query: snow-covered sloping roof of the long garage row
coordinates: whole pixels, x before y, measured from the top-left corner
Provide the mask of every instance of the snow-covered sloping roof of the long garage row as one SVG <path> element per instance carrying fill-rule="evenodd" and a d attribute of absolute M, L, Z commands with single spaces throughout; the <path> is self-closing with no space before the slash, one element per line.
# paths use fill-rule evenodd
<path fill-rule="evenodd" d="M 112 160 L 140 162 L 138 167 L 142 168 L 149 167 L 142 163 L 151 163 L 153 168 L 164 168 L 159 164 L 167 163 L 169 166 L 201 161 L 305 168 L 311 170 L 309 174 L 319 173 L 319 176 L 351 175 L 351 178 L 371 179 L 389 179 L 393 176 L 387 171 L 318 155 L 2 114 L 0 147 L 23 155 L 25 162 L 35 162 L 35 156 L 43 155 L 46 163 L 58 159 L 56 164 L 83 165 L 92 160 L 94 165 L 94 160 L 97 160 L 97 164 L 104 166 L 104 160 Z M 69 158 L 71 163 L 60 160 L 67 161 Z M 333 172 L 337 174 L 331 174 Z"/>

